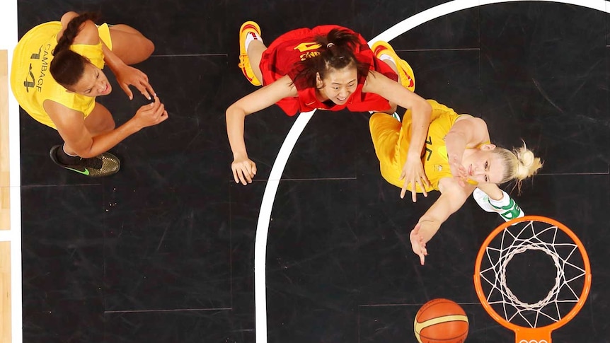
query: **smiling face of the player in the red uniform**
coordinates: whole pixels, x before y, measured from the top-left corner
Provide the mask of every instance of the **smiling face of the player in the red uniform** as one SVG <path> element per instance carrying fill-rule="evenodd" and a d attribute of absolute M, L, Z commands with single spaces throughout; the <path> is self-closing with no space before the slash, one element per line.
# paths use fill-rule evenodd
<path fill-rule="evenodd" d="M 358 71 L 355 66 L 330 69 L 322 80 L 321 92 L 337 105 L 345 105 L 358 86 Z"/>

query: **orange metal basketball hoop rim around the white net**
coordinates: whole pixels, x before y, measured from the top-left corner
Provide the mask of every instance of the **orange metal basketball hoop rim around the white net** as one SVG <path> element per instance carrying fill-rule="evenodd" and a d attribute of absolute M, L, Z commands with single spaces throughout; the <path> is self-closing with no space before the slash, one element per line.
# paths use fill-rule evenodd
<path fill-rule="evenodd" d="M 567 314 L 563 315 L 563 317 L 560 318 L 560 320 L 553 322 L 550 325 L 545 325 L 542 327 L 524 327 L 521 325 L 515 325 L 514 323 L 510 322 L 506 318 L 502 317 L 502 315 L 498 314 L 494 310 L 494 308 L 491 306 L 491 304 L 489 303 L 488 296 L 486 296 L 485 291 L 483 290 L 483 284 L 481 282 L 481 274 L 482 274 L 481 264 L 483 262 L 483 258 L 487 254 L 488 247 L 489 247 L 490 243 L 492 242 L 492 240 L 496 236 L 498 236 L 500 233 L 505 231 L 505 229 L 510 228 L 510 226 L 512 226 L 514 224 L 518 224 L 518 223 L 524 223 L 524 222 L 530 222 L 532 226 L 534 225 L 534 222 L 546 223 L 546 224 L 550 225 L 550 228 L 556 227 L 558 230 L 563 231 L 563 233 L 565 233 L 565 235 L 567 235 L 571 240 L 573 240 L 574 245 L 576 245 L 577 250 L 580 252 L 580 255 L 582 256 L 582 264 L 584 264 L 584 267 L 583 267 L 583 269 L 584 269 L 583 278 L 584 279 L 582 281 L 584 285 L 582 288 L 582 292 L 580 293 L 580 297 L 577 299 L 574 307 Z M 503 237 L 502 237 L 502 244 L 504 244 Z M 582 242 L 580 241 L 580 239 L 575 235 L 575 233 L 573 233 L 568 227 L 563 225 L 563 223 L 560 223 L 560 222 L 550 219 L 550 218 L 546 218 L 544 216 L 524 216 L 521 218 L 513 219 L 512 221 L 507 221 L 506 223 L 502 223 L 502 225 L 495 228 L 495 230 L 489 234 L 488 238 L 485 239 L 485 241 L 483 242 L 483 244 L 481 245 L 481 247 L 478 251 L 473 278 L 474 278 L 474 285 L 475 285 L 475 290 L 476 290 L 477 296 L 479 298 L 480 303 L 483 305 L 483 308 L 485 308 L 485 311 L 487 311 L 487 313 L 489 313 L 489 315 L 495 321 L 500 323 L 500 325 L 507 327 L 508 329 L 514 331 L 516 334 L 517 343 L 521 343 L 521 342 L 550 343 L 551 342 L 551 332 L 553 330 L 558 329 L 559 327 L 562 327 L 567 322 L 572 320 L 572 318 L 574 318 L 575 315 L 580 311 L 582 306 L 585 305 L 585 301 L 587 300 L 587 296 L 589 295 L 589 290 L 591 288 L 591 281 L 592 281 L 591 265 L 589 264 L 589 256 L 587 255 L 587 250 L 585 250 L 585 245 L 583 245 Z M 492 293 L 492 292 L 493 292 L 493 289 L 490 291 L 490 293 Z"/>

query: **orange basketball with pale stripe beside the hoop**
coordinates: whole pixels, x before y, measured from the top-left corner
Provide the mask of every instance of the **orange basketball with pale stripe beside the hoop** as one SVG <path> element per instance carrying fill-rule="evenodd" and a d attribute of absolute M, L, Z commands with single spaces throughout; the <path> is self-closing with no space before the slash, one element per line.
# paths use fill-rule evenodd
<path fill-rule="evenodd" d="M 433 299 L 415 315 L 414 329 L 420 343 L 462 343 L 468 335 L 468 317 L 454 301 Z"/>

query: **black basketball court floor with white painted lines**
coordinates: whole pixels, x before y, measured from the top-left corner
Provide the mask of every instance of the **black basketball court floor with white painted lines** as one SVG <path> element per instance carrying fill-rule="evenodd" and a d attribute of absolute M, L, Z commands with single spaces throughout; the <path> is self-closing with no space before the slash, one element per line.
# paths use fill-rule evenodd
<path fill-rule="evenodd" d="M 592 268 L 585 306 L 553 342 L 610 342 L 609 1 L 9 0 L 0 8 L 2 342 L 417 342 L 413 318 L 434 298 L 466 310 L 466 342 L 514 342 L 473 285 L 480 245 L 503 221 L 468 199 L 421 266 L 408 236 L 438 194 L 413 204 L 381 178 L 369 113 L 287 117 L 274 106 L 251 115 L 246 145 L 258 174 L 248 186 L 232 182 L 224 111 L 255 90 L 237 67 L 248 20 L 267 44 L 321 24 L 381 35 L 413 67 L 416 93 L 482 117 L 495 144 L 523 139 L 544 165 L 512 196 L 526 214 L 571 228 Z M 8 91 L 18 37 L 66 11 L 99 11 L 156 45 L 137 67 L 169 119 L 112 149 L 122 170 L 109 178 L 54 165 L 48 152 L 59 135 Z M 98 101 L 121 124 L 144 101 L 130 102 L 112 82 Z M 516 296 L 543 297 L 553 286 L 546 257 L 512 263 Z"/>

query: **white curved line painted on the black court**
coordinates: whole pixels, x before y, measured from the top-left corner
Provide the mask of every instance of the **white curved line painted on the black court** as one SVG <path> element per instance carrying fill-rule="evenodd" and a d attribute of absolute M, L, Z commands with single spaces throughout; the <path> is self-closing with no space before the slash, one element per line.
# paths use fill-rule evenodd
<path fill-rule="evenodd" d="M 398 35 L 402 35 L 408 30 L 415 28 L 422 23 L 431 21 L 433 19 L 445 16 L 450 13 L 461 11 L 463 9 L 472 8 L 480 5 L 499 4 L 503 2 L 517 2 L 517 1 L 528 1 L 528 0 L 454 0 L 449 1 L 445 4 L 428 8 L 427 10 L 417 13 L 414 16 L 406 18 L 404 21 L 393 25 L 388 30 L 384 31 L 380 35 L 374 37 L 369 41 L 369 45 L 378 41 L 384 40 L 389 42 Z M 582 7 L 592 8 L 597 11 L 606 13 L 609 12 L 610 1 L 606 0 L 538 0 L 546 2 L 556 2 L 560 4 L 571 4 Z M 294 144 L 297 143 L 297 139 L 301 136 L 301 133 L 305 129 L 307 123 L 311 119 L 313 112 L 301 113 L 294 122 L 290 132 L 286 135 L 284 143 L 280 148 L 280 152 L 277 153 L 277 158 L 273 163 L 269 181 L 265 187 L 265 193 L 263 194 L 263 201 L 260 204 L 260 212 L 258 214 L 258 223 L 256 226 L 256 236 L 254 243 L 254 299 L 255 299 L 255 337 L 257 343 L 267 343 L 267 289 L 265 281 L 265 257 L 267 254 L 267 236 L 269 233 L 269 223 L 271 220 L 271 210 L 273 208 L 273 202 L 275 201 L 275 194 L 277 192 L 277 186 L 280 185 L 280 179 L 284 172 L 284 167 L 288 161 L 290 153 L 294 148 Z"/>

